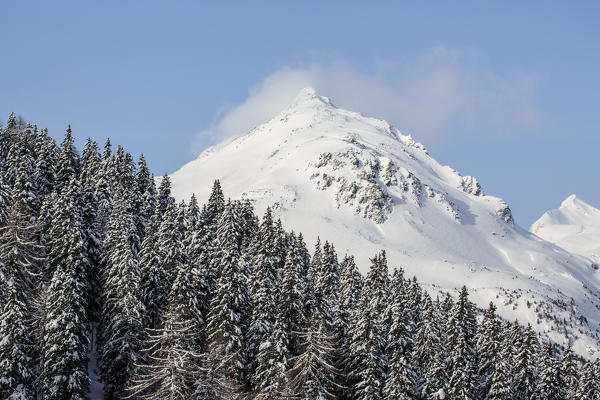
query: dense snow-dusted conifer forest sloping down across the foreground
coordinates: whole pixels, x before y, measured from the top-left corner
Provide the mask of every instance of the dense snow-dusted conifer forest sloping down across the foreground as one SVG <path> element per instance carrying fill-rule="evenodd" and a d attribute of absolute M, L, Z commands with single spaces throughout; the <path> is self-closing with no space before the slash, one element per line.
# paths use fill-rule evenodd
<path fill-rule="evenodd" d="M 0 399 L 600 399 L 600 359 L 467 282 L 433 297 L 386 249 L 363 276 L 218 180 L 176 203 L 143 156 L 74 143 L 0 127 Z"/>

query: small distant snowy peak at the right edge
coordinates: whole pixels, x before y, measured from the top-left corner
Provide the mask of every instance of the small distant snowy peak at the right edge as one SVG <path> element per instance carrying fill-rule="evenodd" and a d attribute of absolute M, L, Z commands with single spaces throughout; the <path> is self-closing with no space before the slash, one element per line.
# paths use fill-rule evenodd
<path fill-rule="evenodd" d="M 600 263 L 600 210 L 574 194 L 542 215 L 530 231 L 573 254 Z"/>

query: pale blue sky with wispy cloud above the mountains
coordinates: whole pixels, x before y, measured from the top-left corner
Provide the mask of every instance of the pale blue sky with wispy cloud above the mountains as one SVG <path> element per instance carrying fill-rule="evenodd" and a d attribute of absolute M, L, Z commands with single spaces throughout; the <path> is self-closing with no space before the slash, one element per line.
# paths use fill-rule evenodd
<path fill-rule="evenodd" d="M 0 120 L 71 123 L 162 174 L 310 84 L 528 227 L 571 193 L 600 205 L 599 18 L 597 1 L 4 2 Z"/>

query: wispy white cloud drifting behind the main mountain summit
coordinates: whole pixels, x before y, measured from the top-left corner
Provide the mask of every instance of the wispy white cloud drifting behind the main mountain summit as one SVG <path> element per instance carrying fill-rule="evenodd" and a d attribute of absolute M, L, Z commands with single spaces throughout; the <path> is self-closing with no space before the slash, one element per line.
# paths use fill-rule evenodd
<path fill-rule="evenodd" d="M 377 65 L 372 73 L 345 61 L 277 70 L 252 87 L 243 103 L 220 113 L 197 143 L 246 133 L 277 115 L 305 86 L 339 107 L 386 119 L 426 144 L 456 135 L 521 133 L 537 125 L 535 79 L 499 76 L 476 56 L 437 47 L 414 62 Z"/>

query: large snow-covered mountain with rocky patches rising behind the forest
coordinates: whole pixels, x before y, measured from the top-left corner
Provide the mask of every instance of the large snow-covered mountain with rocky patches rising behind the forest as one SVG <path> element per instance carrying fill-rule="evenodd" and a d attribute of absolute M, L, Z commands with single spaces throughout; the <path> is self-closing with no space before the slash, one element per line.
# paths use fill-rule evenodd
<path fill-rule="evenodd" d="M 173 194 L 269 205 L 288 229 L 333 242 L 363 271 L 386 249 L 391 267 L 432 294 L 463 284 L 481 307 L 531 323 L 586 357 L 600 353 L 600 272 L 519 227 L 479 182 L 442 166 L 389 123 L 336 108 L 311 88 L 271 121 L 204 151 L 172 174 Z"/>

